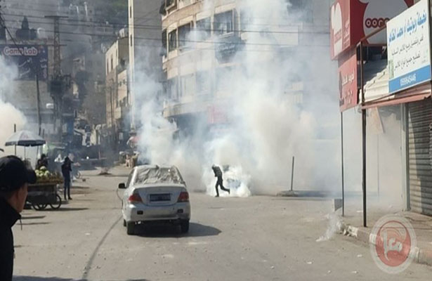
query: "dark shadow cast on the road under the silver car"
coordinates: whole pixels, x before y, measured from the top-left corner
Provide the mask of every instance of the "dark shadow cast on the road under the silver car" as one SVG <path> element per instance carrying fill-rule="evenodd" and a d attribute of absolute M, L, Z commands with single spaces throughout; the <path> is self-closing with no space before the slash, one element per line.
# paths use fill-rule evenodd
<path fill-rule="evenodd" d="M 190 223 L 189 233 L 186 234 L 181 233 L 179 228 L 179 226 L 169 224 L 144 224 L 136 226 L 136 234 L 141 237 L 203 237 L 221 233 L 221 230 L 218 230 L 218 228 L 204 226 L 200 223 Z"/>

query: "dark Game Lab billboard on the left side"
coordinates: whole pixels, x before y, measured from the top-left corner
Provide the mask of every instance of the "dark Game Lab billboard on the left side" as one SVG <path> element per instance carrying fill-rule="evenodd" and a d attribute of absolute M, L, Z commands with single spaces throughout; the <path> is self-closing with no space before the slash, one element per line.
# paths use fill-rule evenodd
<path fill-rule="evenodd" d="M 0 45 L 0 55 L 8 65 L 18 67 L 18 80 L 48 79 L 48 48 L 43 45 Z"/>

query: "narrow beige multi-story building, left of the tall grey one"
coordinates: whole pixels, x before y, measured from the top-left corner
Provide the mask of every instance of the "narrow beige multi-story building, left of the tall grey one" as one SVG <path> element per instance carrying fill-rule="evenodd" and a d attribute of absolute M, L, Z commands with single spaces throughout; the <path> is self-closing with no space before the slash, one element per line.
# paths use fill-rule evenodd
<path fill-rule="evenodd" d="M 113 145 L 130 131 L 129 122 L 129 37 L 117 39 L 105 53 L 106 124 Z"/>

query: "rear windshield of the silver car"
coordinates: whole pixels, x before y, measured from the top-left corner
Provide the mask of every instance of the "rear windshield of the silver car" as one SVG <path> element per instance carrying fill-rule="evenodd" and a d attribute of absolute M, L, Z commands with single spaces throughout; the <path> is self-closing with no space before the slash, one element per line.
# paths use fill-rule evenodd
<path fill-rule="evenodd" d="M 175 166 L 145 167 L 138 169 L 134 184 L 174 183 L 183 184 L 183 178 Z"/>

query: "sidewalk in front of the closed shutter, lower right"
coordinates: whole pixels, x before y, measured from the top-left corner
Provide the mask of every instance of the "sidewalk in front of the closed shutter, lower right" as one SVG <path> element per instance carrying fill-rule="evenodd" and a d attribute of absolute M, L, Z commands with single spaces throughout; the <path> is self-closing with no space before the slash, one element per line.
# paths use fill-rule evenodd
<path fill-rule="evenodd" d="M 417 248 L 414 249 L 414 262 L 432 266 L 432 217 L 410 211 L 393 211 L 391 209 L 367 209 L 367 228 L 363 227 L 363 214 L 351 214 L 342 218 L 341 233 L 355 237 L 367 244 L 374 241 L 371 235 L 374 224 L 382 216 L 388 214 L 400 215 L 410 221 L 417 237 Z"/>

